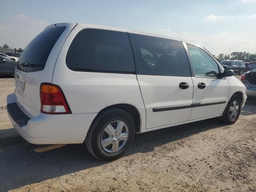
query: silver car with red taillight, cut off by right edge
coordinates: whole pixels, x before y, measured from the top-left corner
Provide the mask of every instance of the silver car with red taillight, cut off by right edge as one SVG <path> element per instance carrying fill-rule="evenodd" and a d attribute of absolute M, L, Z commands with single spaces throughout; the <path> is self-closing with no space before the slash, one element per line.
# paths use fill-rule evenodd
<path fill-rule="evenodd" d="M 256 98 L 256 68 L 244 73 L 241 77 L 241 81 L 247 88 L 247 97 L 249 99 Z"/>

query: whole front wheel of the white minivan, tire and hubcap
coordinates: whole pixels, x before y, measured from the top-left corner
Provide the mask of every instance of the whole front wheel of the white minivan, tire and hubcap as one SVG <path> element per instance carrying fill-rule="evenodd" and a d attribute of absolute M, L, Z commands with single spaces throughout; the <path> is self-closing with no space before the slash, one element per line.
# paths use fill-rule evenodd
<path fill-rule="evenodd" d="M 241 111 L 241 101 L 237 95 L 232 96 L 229 100 L 228 105 L 226 106 L 226 110 L 224 116 L 222 117 L 222 121 L 226 124 L 234 124 L 240 115 Z"/>

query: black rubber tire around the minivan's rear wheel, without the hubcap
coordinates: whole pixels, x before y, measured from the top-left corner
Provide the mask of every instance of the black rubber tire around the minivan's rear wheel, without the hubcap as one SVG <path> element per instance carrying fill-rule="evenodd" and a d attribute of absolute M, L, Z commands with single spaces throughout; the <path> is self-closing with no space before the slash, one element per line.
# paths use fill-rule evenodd
<path fill-rule="evenodd" d="M 101 145 L 101 136 L 104 128 L 115 120 L 123 121 L 128 127 L 128 139 L 117 152 L 106 152 Z M 85 144 L 88 151 L 97 159 L 111 161 L 120 158 L 130 148 L 135 136 L 135 125 L 132 116 L 126 111 L 112 108 L 98 116 L 87 133 Z"/>

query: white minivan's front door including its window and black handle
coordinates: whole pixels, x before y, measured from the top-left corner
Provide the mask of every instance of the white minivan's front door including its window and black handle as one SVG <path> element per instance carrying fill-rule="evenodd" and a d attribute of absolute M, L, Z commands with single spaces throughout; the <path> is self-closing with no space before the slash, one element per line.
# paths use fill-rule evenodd
<path fill-rule="evenodd" d="M 217 62 L 202 48 L 186 44 L 194 68 L 193 108 L 189 120 L 220 116 L 228 102 L 228 79 L 219 77 Z"/>

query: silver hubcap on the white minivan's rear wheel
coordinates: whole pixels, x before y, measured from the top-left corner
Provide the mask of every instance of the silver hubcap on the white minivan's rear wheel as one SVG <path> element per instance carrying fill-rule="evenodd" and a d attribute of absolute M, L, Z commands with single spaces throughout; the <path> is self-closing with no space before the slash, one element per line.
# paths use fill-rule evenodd
<path fill-rule="evenodd" d="M 119 151 L 128 139 L 128 127 L 125 122 L 116 120 L 108 124 L 102 134 L 100 144 L 109 153 Z"/>

